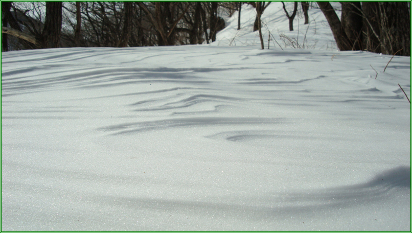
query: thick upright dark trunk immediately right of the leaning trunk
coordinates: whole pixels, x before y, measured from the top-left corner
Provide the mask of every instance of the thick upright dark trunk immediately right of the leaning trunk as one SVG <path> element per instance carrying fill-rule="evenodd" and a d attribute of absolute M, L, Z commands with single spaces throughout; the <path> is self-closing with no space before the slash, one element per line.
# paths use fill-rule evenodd
<path fill-rule="evenodd" d="M 360 2 L 342 2 L 341 26 L 351 41 L 352 50 L 362 50 L 362 12 Z"/>

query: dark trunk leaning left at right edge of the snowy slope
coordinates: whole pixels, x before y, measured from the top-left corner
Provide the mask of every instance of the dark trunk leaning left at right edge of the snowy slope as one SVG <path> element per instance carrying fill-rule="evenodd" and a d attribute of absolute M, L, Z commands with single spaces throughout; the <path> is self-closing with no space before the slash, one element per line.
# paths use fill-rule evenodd
<path fill-rule="evenodd" d="M 352 50 L 352 43 L 349 41 L 344 29 L 340 25 L 339 17 L 329 2 L 316 2 L 319 8 L 321 8 L 329 26 L 332 30 L 333 37 L 335 38 L 337 48 L 340 51 Z"/>

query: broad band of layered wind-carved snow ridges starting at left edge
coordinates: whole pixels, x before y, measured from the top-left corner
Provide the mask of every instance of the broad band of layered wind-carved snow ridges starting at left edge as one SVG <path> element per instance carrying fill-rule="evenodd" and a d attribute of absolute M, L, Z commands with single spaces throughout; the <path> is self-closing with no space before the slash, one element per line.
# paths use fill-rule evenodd
<path fill-rule="evenodd" d="M 196 72 L 231 71 L 235 68 L 136 68 L 136 67 L 70 67 L 40 66 L 2 71 L 2 91 L 24 91 L 30 93 L 62 85 L 74 85 L 77 88 L 100 88 L 118 85 L 168 82 L 202 84 L 210 81 L 199 80 L 191 75 Z M 238 70 L 239 68 L 236 68 Z M 35 75 L 33 75 L 35 73 Z M 10 77 L 10 78 L 7 78 Z"/>

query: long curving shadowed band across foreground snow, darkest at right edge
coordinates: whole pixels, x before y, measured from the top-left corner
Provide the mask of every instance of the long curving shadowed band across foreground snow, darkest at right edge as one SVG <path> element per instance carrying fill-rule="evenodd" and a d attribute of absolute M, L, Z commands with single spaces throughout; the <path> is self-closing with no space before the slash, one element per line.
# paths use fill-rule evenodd
<path fill-rule="evenodd" d="M 178 181 L 173 184 L 168 183 L 167 180 L 164 180 L 165 183 L 159 183 L 157 179 L 136 179 L 136 177 L 133 176 L 102 176 L 87 172 L 54 169 L 47 170 L 43 168 L 36 169 L 34 166 L 25 166 L 18 162 L 6 162 L 6 164 L 17 170 L 30 169 L 37 175 L 41 175 L 45 180 L 56 179 L 57 177 L 58 180 L 64 179 L 64 182 L 67 182 L 67 177 L 71 177 L 69 181 L 78 183 L 79 187 L 82 187 L 82 183 L 85 181 L 92 181 L 100 184 L 103 182 L 118 188 L 122 187 L 119 183 L 127 183 L 129 188 L 135 187 L 136 189 L 142 189 L 142 183 L 151 183 L 152 185 L 157 185 L 158 188 L 163 187 L 163 185 L 165 185 L 165 187 L 170 187 L 170 185 L 172 185 L 175 186 L 176 190 L 181 189 L 182 185 L 182 183 L 179 183 Z M 100 209 L 102 206 L 120 208 L 125 211 L 125 215 L 127 215 L 127 213 L 148 211 L 147 213 L 173 213 L 197 216 L 202 219 L 209 218 L 212 220 L 217 217 L 217 219 L 220 220 L 226 219 L 225 221 L 232 219 L 239 221 L 263 220 L 266 222 L 273 222 L 290 220 L 291 217 L 295 219 L 312 219 L 316 216 L 321 216 L 324 218 L 327 216 L 339 215 L 339 213 L 342 212 L 342 209 L 358 208 L 359 206 L 368 206 L 369 204 L 384 205 L 387 203 L 387 199 L 393 198 L 394 192 L 404 193 L 403 191 L 407 191 L 410 198 L 410 167 L 397 167 L 383 171 L 364 183 L 344 185 L 330 189 L 303 190 L 298 192 L 286 191 L 284 193 L 266 193 L 243 197 L 231 196 L 219 198 L 219 196 L 211 196 L 209 198 L 203 198 L 202 200 L 187 200 L 185 197 L 176 198 L 176 195 L 171 195 L 175 196 L 175 198 L 151 198 L 140 195 L 127 195 L 125 193 L 104 194 L 77 188 L 74 190 L 73 188 L 65 189 L 61 188 L 61 184 L 52 187 L 50 186 L 50 183 L 45 186 L 40 183 L 5 181 L 4 185 L 5 187 L 17 188 L 17 190 L 19 190 L 18 192 L 23 192 L 25 195 L 36 193 L 36 195 L 44 196 L 44 198 L 47 199 L 57 198 L 63 200 L 61 197 L 66 197 L 78 200 L 80 196 L 83 202 L 96 207 L 96 209 Z M 83 202 L 74 204 L 72 207 L 75 209 L 82 209 L 81 204 Z M 48 209 L 48 206 L 42 207 Z M 61 207 L 65 208 L 64 205 Z M 65 209 L 65 211 L 67 213 L 72 213 L 72 207 L 71 209 Z M 14 207 L 8 206 L 8 208 Z M 390 206 L 388 208 L 396 208 L 396 206 Z M 93 212 L 93 210 L 90 210 L 90 212 Z M 404 216 L 407 218 L 407 213 L 410 213 L 410 209 L 408 209 L 408 206 L 405 206 L 402 207 L 399 212 L 404 212 Z M 100 212 L 96 212 L 95 214 L 101 215 Z M 137 215 L 134 217 L 139 218 Z M 159 215 L 156 218 L 162 218 L 162 215 Z"/>

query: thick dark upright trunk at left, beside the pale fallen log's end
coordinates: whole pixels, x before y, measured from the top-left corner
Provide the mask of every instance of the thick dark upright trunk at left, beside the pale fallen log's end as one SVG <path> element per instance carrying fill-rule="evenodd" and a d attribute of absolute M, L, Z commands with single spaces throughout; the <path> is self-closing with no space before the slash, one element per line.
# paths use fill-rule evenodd
<path fill-rule="evenodd" d="M 46 18 L 39 39 L 40 48 L 58 48 L 60 45 L 62 2 L 46 2 Z"/>

